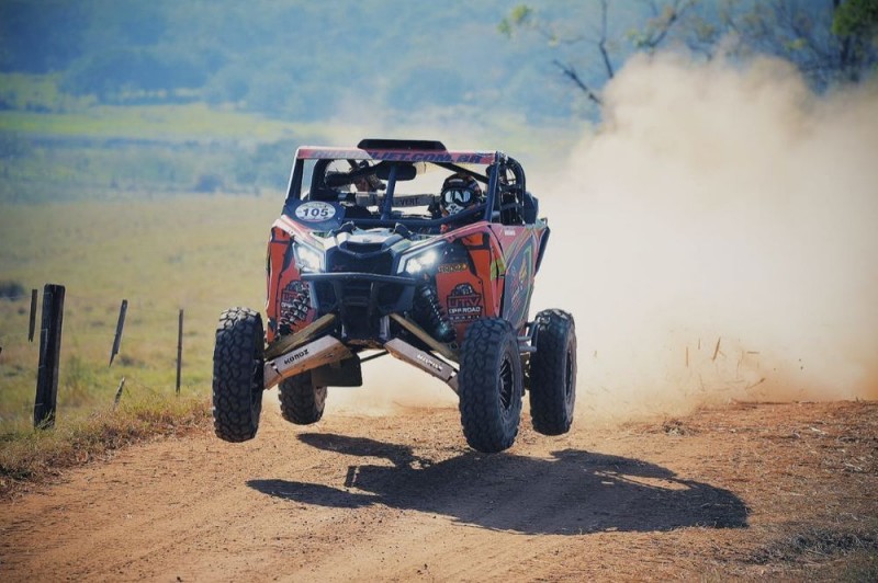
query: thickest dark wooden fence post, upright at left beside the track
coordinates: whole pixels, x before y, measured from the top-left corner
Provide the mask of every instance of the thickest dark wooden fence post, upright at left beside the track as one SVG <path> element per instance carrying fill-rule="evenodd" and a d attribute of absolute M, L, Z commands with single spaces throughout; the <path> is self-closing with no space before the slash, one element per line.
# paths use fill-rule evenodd
<path fill-rule="evenodd" d="M 64 325 L 64 286 L 46 284 L 43 288 L 43 320 L 40 330 L 40 367 L 36 371 L 34 427 L 55 425 L 58 402 L 58 363 Z"/>

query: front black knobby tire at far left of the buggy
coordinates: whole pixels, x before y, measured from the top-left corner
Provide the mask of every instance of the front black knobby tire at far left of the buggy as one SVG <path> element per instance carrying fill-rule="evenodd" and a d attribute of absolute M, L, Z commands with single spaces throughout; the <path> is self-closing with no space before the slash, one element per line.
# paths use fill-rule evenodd
<path fill-rule="evenodd" d="M 249 308 L 219 316 L 213 351 L 213 427 L 226 442 L 256 436 L 262 412 L 262 317 Z"/>

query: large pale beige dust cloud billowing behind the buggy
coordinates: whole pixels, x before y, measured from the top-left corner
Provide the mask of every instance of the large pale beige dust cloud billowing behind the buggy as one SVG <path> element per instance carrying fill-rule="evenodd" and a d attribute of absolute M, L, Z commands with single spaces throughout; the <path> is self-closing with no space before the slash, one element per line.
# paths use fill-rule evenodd
<path fill-rule="evenodd" d="M 581 419 L 878 398 L 878 88 L 643 57 L 605 119 L 529 181 L 533 311 L 576 318 Z"/>

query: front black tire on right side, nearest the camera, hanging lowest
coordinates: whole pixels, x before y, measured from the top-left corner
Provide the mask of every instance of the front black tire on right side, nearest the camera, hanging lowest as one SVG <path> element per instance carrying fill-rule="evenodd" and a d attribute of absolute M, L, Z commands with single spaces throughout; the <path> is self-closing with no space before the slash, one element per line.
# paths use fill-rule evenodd
<path fill-rule="evenodd" d="M 458 396 L 463 435 L 487 454 L 513 445 L 521 419 L 521 357 L 518 338 L 499 318 L 476 320 L 460 350 Z"/>

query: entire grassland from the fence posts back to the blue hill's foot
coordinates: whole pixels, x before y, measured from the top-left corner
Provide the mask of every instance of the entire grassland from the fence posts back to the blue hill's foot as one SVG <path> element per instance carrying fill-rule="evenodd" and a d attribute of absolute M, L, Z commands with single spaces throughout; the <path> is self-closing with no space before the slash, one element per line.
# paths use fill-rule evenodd
<path fill-rule="evenodd" d="M 206 399 L 217 316 L 262 308 L 266 240 L 281 208 L 272 190 L 296 146 L 436 138 L 500 148 L 537 168 L 529 162 L 565 157 L 579 133 L 500 114 L 470 124 L 453 111 L 293 123 L 203 103 L 97 105 L 38 76 L 0 75 L 0 98 L 14 106 L 0 111 L 0 288 L 21 290 L 0 299 L 0 436 L 32 423 L 30 290 L 46 283 L 67 288 L 59 424 L 111 407 L 122 377 L 125 399 L 172 395 L 181 308 L 182 392 Z M 247 194 L 191 194 L 203 176 L 217 192 Z M 123 299 L 122 346 L 109 367 Z"/>

